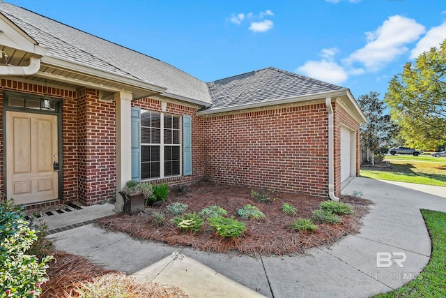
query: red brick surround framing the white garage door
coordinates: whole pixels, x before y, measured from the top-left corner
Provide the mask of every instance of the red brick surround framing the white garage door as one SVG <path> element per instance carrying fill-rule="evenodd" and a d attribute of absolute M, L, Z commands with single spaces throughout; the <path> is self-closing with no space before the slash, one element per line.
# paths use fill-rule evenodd
<path fill-rule="evenodd" d="M 339 103 L 334 111 L 334 194 L 341 194 L 341 125 L 356 131 L 356 175 L 360 173 L 360 124 Z"/>

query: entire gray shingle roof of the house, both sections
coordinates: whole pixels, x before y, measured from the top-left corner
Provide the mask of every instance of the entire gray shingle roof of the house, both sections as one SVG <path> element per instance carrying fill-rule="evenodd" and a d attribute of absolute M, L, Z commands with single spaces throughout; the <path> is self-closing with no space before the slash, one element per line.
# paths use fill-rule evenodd
<path fill-rule="evenodd" d="M 163 61 L 1 0 L 0 13 L 47 47 L 49 57 L 155 84 L 167 88 L 168 94 L 211 104 L 203 110 L 345 89 L 277 68 L 264 68 L 206 84 Z"/>

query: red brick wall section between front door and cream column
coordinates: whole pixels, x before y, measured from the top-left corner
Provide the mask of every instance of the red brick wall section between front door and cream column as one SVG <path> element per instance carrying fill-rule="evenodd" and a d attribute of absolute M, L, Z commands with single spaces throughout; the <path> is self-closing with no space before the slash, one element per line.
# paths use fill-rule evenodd
<path fill-rule="evenodd" d="M 116 106 L 98 98 L 77 91 L 79 201 L 87 205 L 116 198 Z"/>

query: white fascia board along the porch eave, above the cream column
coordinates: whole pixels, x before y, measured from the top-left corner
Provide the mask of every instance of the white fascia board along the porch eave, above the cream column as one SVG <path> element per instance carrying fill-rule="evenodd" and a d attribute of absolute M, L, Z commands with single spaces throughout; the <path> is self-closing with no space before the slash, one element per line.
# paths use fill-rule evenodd
<path fill-rule="evenodd" d="M 74 70 L 79 73 L 85 73 L 87 75 L 94 75 L 95 77 L 100 77 L 105 80 L 112 80 L 114 82 L 120 82 L 122 84 L 128 84 L 133 87 L 146 89 L 150 91 L 156 91 L 158 93 L 162 93 L 167 90 L 166 87 L 161 87 L 155 84 L 149 84 L 143 82 L 141 80 L 133 80 L 130 77 L 123 77 L 121 75 L 115 75 L 114 73 L 109 73 L 104 70 L 98 70 L 96 68 L 91 68 L 88 66 L 84 66 L 82 64 L 77 64 L 75 62 L 69 62 L 66 60 L 57 59 L 54 57 L 45 56 L 42 58 L 42 62 L 45 64 L 49 64 L 49 66 L 62 67 L 67 70 Z"/>

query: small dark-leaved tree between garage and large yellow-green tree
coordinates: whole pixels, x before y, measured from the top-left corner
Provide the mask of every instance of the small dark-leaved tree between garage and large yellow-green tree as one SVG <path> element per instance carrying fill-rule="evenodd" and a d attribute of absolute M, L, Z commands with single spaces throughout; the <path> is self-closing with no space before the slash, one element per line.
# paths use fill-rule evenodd
<path fill-rule="evenodd" d="M 387 106 L 380 100 L 377 92 L 357 98 L 362 112 L 367 121 L 360 126 L 362 147 L 371 152 L 371 162 L 374 163 L 374 155 L 379 153 L 379 147 L 383 143 L 389 143 L 397 134 L 398 126 L 392 123 L 390 115 L 384 114 Z"/>

